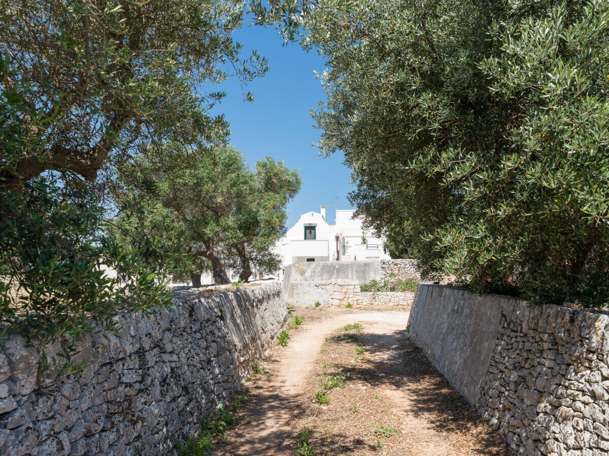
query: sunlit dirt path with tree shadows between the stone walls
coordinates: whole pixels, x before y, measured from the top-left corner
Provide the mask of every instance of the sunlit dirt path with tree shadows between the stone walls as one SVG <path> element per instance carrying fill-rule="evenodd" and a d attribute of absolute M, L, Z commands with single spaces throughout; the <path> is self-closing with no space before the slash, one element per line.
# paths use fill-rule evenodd
<path fill-rule="evenodd" d="M 303 428 L 312 430 L 319 455 L 504 454 L 498 438 L 407 340 L 407 312 L 295 314 L 305 323 L 247 385 L 251 398 L 214 454 L 290 454 Z M 363 326 L 359 332 L 343 331 L 354 322 Z M 317 404 L 319 379 L 335 374 L 345 376 L 344 387 L 328 391 L 329 404 Z"/>

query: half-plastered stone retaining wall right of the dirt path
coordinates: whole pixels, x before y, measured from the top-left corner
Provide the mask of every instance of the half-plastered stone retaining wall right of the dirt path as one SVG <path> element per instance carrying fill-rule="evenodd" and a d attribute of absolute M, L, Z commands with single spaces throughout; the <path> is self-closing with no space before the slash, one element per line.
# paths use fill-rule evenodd
<path fill-rule="evenodd" d="M 409 327 L 517 454 L 609 454 L 606 314 L 420 285 Z"/>

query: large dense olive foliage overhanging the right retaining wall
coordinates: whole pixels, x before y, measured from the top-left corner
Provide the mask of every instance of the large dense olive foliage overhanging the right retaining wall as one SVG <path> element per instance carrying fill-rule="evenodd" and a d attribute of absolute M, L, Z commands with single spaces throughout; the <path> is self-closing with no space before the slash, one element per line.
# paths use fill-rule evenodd
<path fill-rule="evenodd" d="M 390 250 L 479 292 L 608 302 L 606 1 L 287 3 L 327 62 L 320 150 Z"/>

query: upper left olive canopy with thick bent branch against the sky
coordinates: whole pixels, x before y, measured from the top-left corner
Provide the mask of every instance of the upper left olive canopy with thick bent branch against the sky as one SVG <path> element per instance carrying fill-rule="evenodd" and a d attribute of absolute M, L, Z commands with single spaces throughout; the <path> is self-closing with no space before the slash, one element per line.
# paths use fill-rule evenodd
<path fill-rule="evenodd" d="M 243 25 L 240 1 L 0 0 L 0 9 L 14 71 L 0 83 L 29 86 L 32 102 L 55 117 L 38 125 L 22 117 L 46 144 L 13 155 L 7 182 L 45 170 L 107 179 L 104 164 L 159 138 L 221 142 L 228 123 L 209 111 L 225 94 L 206 88 L 229 69 L 244 83 L 268 70 L 256 52 L 242 58 L 233 38 Z"/>

